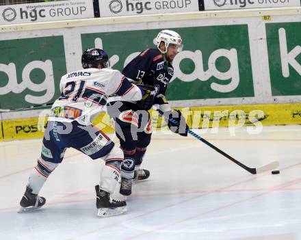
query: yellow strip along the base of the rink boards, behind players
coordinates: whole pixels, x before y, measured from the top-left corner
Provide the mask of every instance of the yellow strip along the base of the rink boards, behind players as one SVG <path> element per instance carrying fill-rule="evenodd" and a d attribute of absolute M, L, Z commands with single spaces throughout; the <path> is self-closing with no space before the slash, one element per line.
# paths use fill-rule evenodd
<path fill-rule="evenodd" d="M 259 126 L 261 124 L 301 124 L 301 103 L 186 107 L 182 108 L 181 112 L 192 129 L 219 126 Z M 152 110 L 150 113 L 154 131 L 168 129 L 166 122 L 159 117 L 157 111 Z M 43 136 L 45 123 L 46 119 L 43 118 L 40 118 L 40 121 L 39 118 L 3 120 L 3 139 L 40 138 Z M 105 133 L 114 132 L 114 122 L 105 112 L 102 112 L 93 121 L 93 124 Z"/>

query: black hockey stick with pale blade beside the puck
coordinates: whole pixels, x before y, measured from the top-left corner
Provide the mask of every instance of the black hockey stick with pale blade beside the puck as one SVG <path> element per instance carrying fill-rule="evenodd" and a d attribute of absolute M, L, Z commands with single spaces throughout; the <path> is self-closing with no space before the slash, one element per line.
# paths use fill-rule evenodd
<path fill-rule="evenodd" d="M 162 111 L 159 111 L 159 113 L 163 114 Z M 176 120 L 174 120 L 174 118 L 169 118 L 168 120 L 170 122 L 174 123 L 174 124 L 179 124 L 179 122 L 176 121 Z M 234 159 L 230 155 L 226 154 L 226 152 L 220 150 L 220 148 L 217 148 L 216 146 L 214 146 L 213 144 L 211 144 L 210 142 L 208 142 L 204 138 L 200 137 L 199 135 L 197 135 L 196 133 L 194 133 L 190 129 L 188 129 L 187 133 L 189 133 L 190 135 L 196 137 L 196 139 L 200 140 L 200 142 L 203 142 L 204 144 L 206 144 L 210 148 L 213 148 L 215 151 L 219 152 L 221 155 L 223 155 L 227 159 L 233 161 L 233 163 L 236 163 L 237 165 L 239 165 L 239 167 L 244 168 L 244 170 L 247 170 L 251 174 L 259 174 L 261 172 L 271 171 L 271 170 L 274 170 L 275 168 L 278 168 L 278 166 L 279 166 L 279 162 L 278 161 L 273 161 L 272 163 L 269 163 L 267 165 L 263 165 L 260 168 L 249 168 L 248 166 L 244 165 L 240 161 L 237 161 L 236 159 Z"/>

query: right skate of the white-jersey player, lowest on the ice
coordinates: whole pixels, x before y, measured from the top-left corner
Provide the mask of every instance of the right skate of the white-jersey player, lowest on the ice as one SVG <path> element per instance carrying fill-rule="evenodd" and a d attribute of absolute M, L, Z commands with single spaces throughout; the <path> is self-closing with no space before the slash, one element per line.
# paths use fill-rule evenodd
<path fill-rule="evenodd" d="M 95 190 L 97 215 L 99 217 L 116 216 L 127 211 L 127 202 L 111 199 L 107 191 L 99 189 L 99 185 L 95 186 Z"/>

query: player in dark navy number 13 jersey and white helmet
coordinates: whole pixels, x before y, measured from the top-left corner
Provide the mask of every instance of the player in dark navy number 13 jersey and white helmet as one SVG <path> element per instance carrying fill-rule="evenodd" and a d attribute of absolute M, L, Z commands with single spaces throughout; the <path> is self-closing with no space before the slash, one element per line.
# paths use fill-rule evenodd
<path fill-rule="evenodd" d="M 178 124 L 168 122 L 170 130 L 174 133 L 187 136 L 187 124 L 185 118 L 181 116 L 180 111 L 174 111 L 170 108 L 165 94 L 168 82 L 174 75 L 172 60 L 182 49 L 182 39 L 179 34 L 171 30 L 160 31 L 156 38 L 156 49 L 145 49 L 135 57 L 125 68 L 122 74 L 133 83 L 144 83 L 153 85 L 155 88 L 155 104 L 159 105 L 159 111 L 164 113 L 166 118 L 174 118 Z M 114 103 L 114 102 L 113 102 Z M 141 107 L 135 101 L 122 101 L 119 116 L 109 114 L 115 117 L 116 131 L 120 139 L 120 146 L 125 154 L 125 160 L 121 165 L 121 185 L 120 194 L 129 196 L 133 180 L 144 180 L 150 176 L 148 170 L 140 169 L 143 157 L 151 139 L 151 120 L 150 115 L 147 121 L 142 121 Z M 148 110 L 145 109 L 144 110 Z M 133 137 L 131 130 L 138 130 L 138 137 Z M 143 129 L 143 131 L 141 131 Z M 118 134 L 118 132 L 120 134 Z"/>

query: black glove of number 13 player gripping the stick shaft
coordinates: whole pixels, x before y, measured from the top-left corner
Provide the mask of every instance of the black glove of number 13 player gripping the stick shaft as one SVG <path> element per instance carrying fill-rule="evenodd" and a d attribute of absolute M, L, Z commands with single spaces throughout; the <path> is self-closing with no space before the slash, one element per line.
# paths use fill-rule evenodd
<path fill-rule="evenodd" d="M 166 114 L 166 113 L 165 113 Z M 164 115 L 165 115 L 164 114 Z M 187 126 L 185 118 L 182 116 L 181 111 L 172 110 L 168 116 L 168 127 L 173 133 L 178 133 L 183 137 L 187 137 L 189 127 Z"/>

